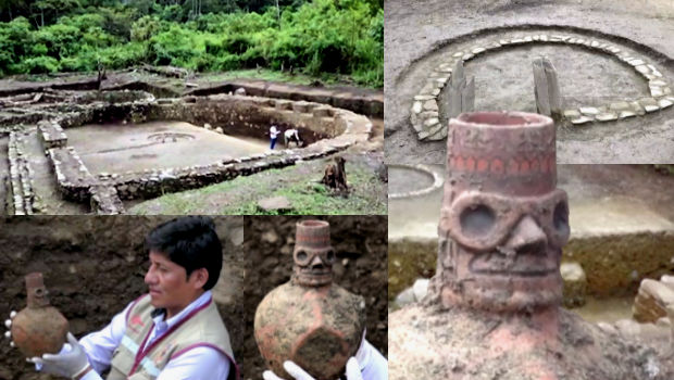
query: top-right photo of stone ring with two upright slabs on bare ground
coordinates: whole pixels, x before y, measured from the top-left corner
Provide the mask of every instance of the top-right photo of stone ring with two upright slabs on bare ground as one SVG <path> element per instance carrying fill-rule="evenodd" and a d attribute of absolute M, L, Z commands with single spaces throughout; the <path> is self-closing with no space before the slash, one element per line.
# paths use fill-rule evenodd
<path fill-rule="evenodd" d="M 387 162 L 442 163 L 447 122 L 472 110 L 553 116 L 560 163 L 672 162 L 673 14 L 663 0 L 390 2 Z"/>

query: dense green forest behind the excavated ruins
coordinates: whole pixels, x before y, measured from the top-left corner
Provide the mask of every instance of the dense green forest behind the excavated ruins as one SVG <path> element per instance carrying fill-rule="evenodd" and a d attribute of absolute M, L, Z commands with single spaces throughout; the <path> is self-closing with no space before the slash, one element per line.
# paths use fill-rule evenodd
<path fill-rule="evenodd" d="M 384 0 L 0 0 L 0 77 L 140 64 L 384 84 Z"/>

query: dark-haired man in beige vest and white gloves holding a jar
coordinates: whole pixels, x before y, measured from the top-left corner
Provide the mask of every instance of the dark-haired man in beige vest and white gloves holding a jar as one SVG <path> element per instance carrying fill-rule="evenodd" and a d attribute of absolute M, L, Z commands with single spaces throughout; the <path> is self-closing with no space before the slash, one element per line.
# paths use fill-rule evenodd
<path fill-rule="evenodd" d="M 27 360 L 42 372 L 83 380 L 101 379 L 108 369 L 108 380 L 239 379 L 211 294 L 222 268 L 213 221 L 189 216 L 164 223 L 147 236 L 146 250 L 148 294 L 79 342 L 68 332 L 70 345 L 59 354 Z"/>

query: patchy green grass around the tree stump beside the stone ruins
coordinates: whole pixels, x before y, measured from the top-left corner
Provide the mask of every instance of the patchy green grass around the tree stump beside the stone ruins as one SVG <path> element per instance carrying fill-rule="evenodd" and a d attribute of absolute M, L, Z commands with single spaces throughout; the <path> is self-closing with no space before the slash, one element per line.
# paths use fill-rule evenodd
<path fill-rule="evenodd" d="M 347 198 L 333 195 L 319 183 L 325 161 L 307 162 L 283 169 L 271 169 L 252 176 L 201 189 L 165 194 L 128 210 L 130 214 L 225 214 L 276 215 L 258 207 L 258 201 L 285 197 L 299 215 L 384 215 L 387 213 L 386 185 L 363 162 L 348 161 L 347 179 L 351 189 Z"/>

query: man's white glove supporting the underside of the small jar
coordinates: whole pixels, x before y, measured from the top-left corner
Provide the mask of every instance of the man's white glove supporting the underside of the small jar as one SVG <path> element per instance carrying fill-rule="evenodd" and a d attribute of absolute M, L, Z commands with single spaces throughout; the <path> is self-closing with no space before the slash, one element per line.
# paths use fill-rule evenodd
<path fill-rule="evenodd" d="M 64 376 L 66 378 L 79 377 L 91 369 L 89 359 L 82 344 L 72 333 L 67 333 L 67 341 L 58 354 L 43 354 L 42 357 L 26 359 L 34 363 L 35 367 L 46 373 Z"/>

